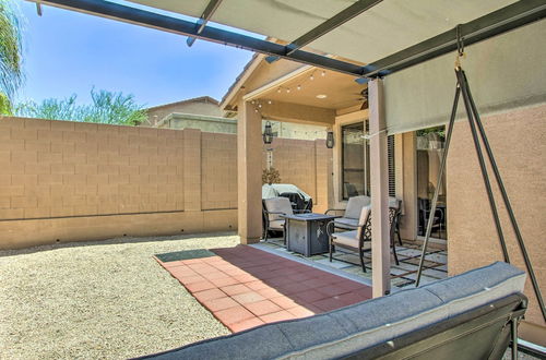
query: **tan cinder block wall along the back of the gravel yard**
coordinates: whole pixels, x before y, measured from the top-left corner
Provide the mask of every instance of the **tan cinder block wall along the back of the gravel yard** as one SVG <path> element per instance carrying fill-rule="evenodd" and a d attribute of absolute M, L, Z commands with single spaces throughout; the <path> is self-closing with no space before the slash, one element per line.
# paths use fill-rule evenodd
<path fill-rule="evenodd" d="M 199 130 L 0 117 L 0 249 L 235 230 L 236 141 Z M 284 156 L 292 157 L 277 159 Z M 292 172 L 305 165 L 288 163 Z M 316 196 L 308 185 L 316 181 L 294 180 Z"/>

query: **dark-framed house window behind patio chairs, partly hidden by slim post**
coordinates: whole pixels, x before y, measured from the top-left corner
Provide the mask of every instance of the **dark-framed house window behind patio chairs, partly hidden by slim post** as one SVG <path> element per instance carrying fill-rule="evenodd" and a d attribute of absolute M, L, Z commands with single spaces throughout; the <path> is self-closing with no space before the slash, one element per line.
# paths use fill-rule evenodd
<path fill-rule="evenodd" d="M 343 200 L 357 195 L 370 194 L 370 148 L 364 139 L 365 122 L 357 122 L 341 128 L 342 133 L 342 184 Z M 366 120 L 366 133 L 369 127 Z M 396 192 L 394 181 L 394 136 L 388 136 L 389 156 L 389 195 Z"/>

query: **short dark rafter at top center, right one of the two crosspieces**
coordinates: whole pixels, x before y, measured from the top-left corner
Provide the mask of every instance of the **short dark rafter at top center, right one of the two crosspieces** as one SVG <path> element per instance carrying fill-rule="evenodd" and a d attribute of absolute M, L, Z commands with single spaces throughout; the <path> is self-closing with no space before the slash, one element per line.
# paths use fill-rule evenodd
<path fill-rule="evenodd" d="M 290 55 L 294 51 L 302 48 L 304 46 L 314 41 L 319 37 L 330 33 L 331 31 L 343 25 L 353 17 L 356 17 L 361 13 L 364 13 L 365 11 L 373 8 L 381 1 L 382 0 L 359 0 L 355 2 L 351 7 L 342 10 L 341 12 L 330 17 L 319 26 L 310 29 L 306 34 L 301 35 L 300 37 L 288 44 L 286 46 L 286 55 Z"/>

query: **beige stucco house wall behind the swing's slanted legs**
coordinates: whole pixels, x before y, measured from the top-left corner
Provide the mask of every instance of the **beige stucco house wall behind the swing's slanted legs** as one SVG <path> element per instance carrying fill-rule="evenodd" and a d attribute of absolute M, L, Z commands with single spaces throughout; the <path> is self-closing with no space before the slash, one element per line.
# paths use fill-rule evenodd
<path fill-rule="evenodd" d="M 483 120 L 544 296 L 546 105 L 489 116 Z M 467 122 L 458 122 L 454 127 L 449 151 L 447 185 L 449 273 L 459 274 L 494 261 L 502 261 Z M 492 188 L 497 203 L 500 204 L 501 197 L 496 184 Z M 524 269 L 521 252 L 502 205 L 500 216 L 511 261 Z M 529 279 L 525 284 L 525 295 L 530 298 L 525 322 L 533 325 L 524 325 L 522 334 L 524 338 L 545 346 L 546 324 Z"/>

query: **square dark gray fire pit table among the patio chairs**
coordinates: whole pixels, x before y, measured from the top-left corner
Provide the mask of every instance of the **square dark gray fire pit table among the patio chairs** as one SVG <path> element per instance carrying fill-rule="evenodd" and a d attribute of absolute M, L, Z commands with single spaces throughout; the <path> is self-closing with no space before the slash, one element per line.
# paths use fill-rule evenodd
<path fill-rule="evenodd" d="M 307 213 L 282 217 L 286 220 L 286 248 L 309 257 L 328 252 L 327 225 L 340 216 Z"/>

